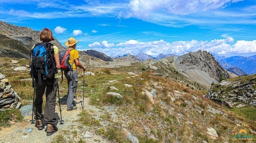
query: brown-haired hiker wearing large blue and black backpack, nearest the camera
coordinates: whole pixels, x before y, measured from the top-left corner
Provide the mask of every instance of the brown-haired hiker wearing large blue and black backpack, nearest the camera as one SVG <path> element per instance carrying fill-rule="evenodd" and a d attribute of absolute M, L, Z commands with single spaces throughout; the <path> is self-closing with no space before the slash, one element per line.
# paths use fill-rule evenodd
<path fill-rule="evenodd" d="M 33 80 L 34 94 L 36 94 L 36 98 L 33 100 L 33 112 L 37 129 L 43 129 L 43 119 L 47 124 L 47 135 L 52 135 L 58 131 L 58 128 L 55 126 L 57 124 L 55 101 L 58 88 L 57 69 L 60 69 L 59 49 L 50 43 L 54 38 L 52 31 L 48 28 L 44 28 L 41 31 L 40 40 L 42 43 L 34 45 L 30 54 L 31 77 Z M 42 117 L 44 93 L 46 95 L 46 103 L 45 112 Z"/>

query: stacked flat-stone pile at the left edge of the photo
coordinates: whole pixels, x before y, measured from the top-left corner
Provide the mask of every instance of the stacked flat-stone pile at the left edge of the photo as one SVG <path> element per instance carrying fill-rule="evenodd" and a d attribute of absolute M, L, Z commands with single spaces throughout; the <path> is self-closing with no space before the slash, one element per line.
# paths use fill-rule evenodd
<path fill-rule="evenodd" d="M 0 73 L 0 109 L 1 108 L 16 108 L 21 106 L 19 102 L 21 98 L 14 89 L 9 85 L 9 80 L 5 75 Z"/>

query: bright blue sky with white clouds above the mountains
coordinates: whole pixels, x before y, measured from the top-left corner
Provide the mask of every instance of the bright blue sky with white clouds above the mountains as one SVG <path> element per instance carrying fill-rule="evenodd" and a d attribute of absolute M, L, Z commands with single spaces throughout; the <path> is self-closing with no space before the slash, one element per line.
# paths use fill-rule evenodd
<path fill-rule="evenodd" d="M 256 54 L 255 0 L 0 0 L 0 20 L 109 56 Z"/>

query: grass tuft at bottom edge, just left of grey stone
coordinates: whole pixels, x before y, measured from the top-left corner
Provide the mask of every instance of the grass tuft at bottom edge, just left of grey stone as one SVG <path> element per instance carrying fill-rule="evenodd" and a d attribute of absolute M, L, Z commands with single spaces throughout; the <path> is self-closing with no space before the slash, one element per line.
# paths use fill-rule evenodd
<path fill-rule="evenodd" d="M 116 143 L 127 143 L 129 140 L 127 139 L 127 132 L 122 129 L 122 127 L 111 126 L 107 128 L 105 136 Z"/>

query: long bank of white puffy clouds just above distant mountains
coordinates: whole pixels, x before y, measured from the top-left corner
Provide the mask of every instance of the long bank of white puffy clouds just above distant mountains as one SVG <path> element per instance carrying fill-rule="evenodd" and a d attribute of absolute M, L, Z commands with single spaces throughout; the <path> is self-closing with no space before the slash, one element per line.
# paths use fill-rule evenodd
<path fill-rule="evenodd" d="M 107 43 L 107 41 L 103 41 L 102 43 L 94 42 L 89 44 L 88 47 L 99 52 L 103 52 L 109 56 L 123 55 L 126 53 L 136 55 L 140 52 L 152 56 L 169 53 L 182 55 L 198 50 L 206 50 L 211 54 L 217 55 L 256 53 L 256 40 L 238 40 L 234 43 L 234 39 L 232 37 L 214 39 L 211 41 L 174 41 L 173 43 L 168 43 L 164 40 L 148 42 L 129 40 L 124 43 L 116 44 L 116 48 L 111 48 L 113 46 L 115 46 L 114 43 Z"/>

